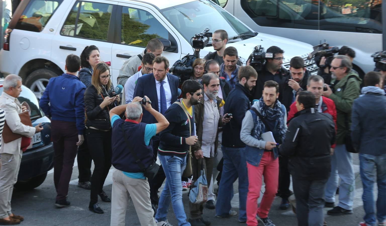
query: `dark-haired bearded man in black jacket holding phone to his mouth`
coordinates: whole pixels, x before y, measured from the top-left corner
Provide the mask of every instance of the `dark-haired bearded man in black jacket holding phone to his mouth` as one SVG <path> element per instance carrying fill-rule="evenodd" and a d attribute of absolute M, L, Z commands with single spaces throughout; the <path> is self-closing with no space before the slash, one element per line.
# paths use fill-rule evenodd
<path fill-rule="evenodd" d="M 308 77 L 310 77 L 310 72 L 306 70 L 301 57 L 293 57 L 289 65 L 289 76 L 281 79 L 279 83 L 281 94 L 279 101 L 286 107 L 287 112 L 296 99 L 296 92 L 306 90 Z"/>

